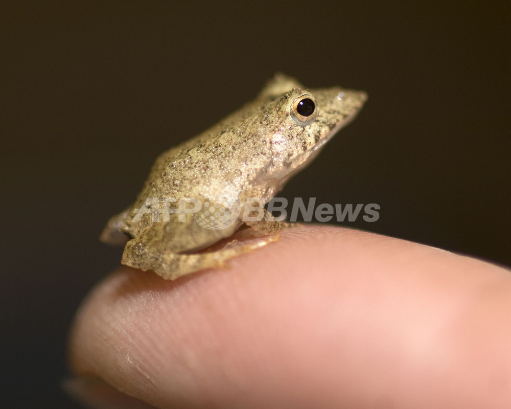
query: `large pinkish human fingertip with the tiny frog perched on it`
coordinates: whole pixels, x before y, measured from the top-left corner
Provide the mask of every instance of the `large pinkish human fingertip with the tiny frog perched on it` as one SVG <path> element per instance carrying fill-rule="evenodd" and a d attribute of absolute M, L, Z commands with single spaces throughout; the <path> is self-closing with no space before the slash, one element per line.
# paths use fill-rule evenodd
<path fill-rule="evenodd" d="M 332 226 L 283 229 L 229 268 L 113 272 L 76 317 L 67 387 L 109 408 L 508 408 L 510 312 L 504 268 Z"/>

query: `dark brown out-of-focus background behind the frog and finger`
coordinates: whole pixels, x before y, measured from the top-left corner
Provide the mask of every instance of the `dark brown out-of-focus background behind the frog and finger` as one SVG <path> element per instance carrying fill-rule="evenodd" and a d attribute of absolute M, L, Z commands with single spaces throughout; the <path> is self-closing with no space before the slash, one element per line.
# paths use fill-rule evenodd
<path fill-rule="evenodd" d="M 282 196 L 378 203 L 342 224 L 511 265 L 509 3 L 331 4 L 0 3 L 0 406 L 78 407 L 66 334 L 120 263 L 106 220 L 276 71 L 369 95 Z"/>

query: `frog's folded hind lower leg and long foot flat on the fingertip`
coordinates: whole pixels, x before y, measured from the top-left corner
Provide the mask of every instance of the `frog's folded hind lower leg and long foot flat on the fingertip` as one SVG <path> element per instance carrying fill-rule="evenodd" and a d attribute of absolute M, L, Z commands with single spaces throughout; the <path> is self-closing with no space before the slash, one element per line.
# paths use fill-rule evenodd
<path fill-rule="evenodd" d="M 241 237 L 241 236 L 240 236 Z M 176 280 L 206 268 L 225 267 L 227 260 L 248 253 L 277 240 L 277 236 L 253 238 L 249 240 L 234 239 L 215 249 L 214 245 L 197 253 L 179 254 L 152 251 L 146 244 L 132 239 L 124 248 L 122 263 L 141 270 L 153 270 L 166 280 Z"/>

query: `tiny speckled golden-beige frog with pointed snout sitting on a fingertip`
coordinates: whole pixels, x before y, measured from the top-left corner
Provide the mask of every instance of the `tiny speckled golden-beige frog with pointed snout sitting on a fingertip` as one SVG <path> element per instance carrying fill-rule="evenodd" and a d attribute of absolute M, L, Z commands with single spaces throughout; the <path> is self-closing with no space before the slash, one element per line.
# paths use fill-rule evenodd
<path fill-rule="evenodd" d="M 252 102 L 162 153 L 133 205 L 108 221 L 101 240 L 126 244 L 123 264 L 170 280 L 224 266 L 275 240 L 284 224 L 263 206 L 366 99 L 361 91 L 308 89 L 275 75 Z M 241 234 L 258 239 L 219 247 L 242 225 Z"/>

